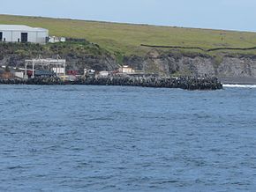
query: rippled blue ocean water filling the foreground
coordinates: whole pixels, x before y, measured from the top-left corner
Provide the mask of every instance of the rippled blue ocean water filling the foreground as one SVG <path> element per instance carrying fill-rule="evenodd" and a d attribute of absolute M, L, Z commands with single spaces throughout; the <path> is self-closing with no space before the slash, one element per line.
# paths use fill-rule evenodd
<path fill-rule="evenodd" d="M 0 191 L 255 191 L 256 88 L 0 85 Z"/>

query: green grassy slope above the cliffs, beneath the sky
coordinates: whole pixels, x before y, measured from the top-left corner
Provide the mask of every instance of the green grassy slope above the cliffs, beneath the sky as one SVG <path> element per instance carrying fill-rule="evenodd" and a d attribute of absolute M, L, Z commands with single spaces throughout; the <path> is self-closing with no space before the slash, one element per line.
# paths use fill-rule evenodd
<path fill-rule="evenodd" d="M 148 48 L 141 48 L 140 44 L 201 48 L 256 46 L 256 33 L 248 32 L 8 15 L 0 15 L 0 24 L 24 24 L 48 28 L 50 35 L 86 38 L 112 53 L 120 52 L 122 55 L 144 55 Z M 232 51 L 232 53 L 256 55 L 256 50 Z"/>

